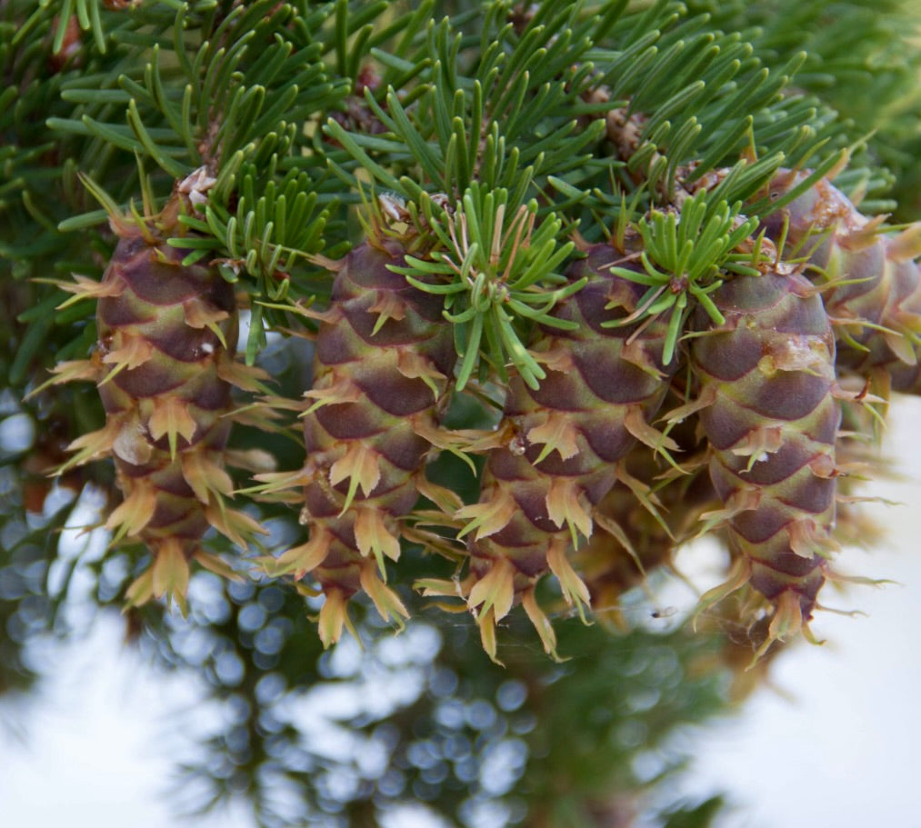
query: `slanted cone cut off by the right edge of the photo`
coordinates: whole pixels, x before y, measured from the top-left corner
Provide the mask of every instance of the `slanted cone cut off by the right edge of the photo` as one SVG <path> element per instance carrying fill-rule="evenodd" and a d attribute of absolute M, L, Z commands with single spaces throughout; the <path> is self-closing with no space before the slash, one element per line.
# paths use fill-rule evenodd
<path fill-rule="evenodd" d="M 785 171 L 771 185 L 779 196 L 807 177 Z M 829 181 L 818 181 L 770 217 L 772 238 L 787 222 L 788 249 L 808 257 L 814 280 L 834 320 L 838 364 L 876 379 L 877 388 L 921 392 L 921 252 L 918 227 L 897 236 L 879 232 L 881 219 L 860 214 Z M 836 284 L 836 283 L 845 284 Z"/>

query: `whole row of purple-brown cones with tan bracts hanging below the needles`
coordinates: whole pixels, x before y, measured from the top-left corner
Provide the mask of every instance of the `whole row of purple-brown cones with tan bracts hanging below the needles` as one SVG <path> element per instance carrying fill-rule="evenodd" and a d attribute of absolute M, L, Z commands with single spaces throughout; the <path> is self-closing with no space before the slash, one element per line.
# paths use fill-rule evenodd
<path fill-rule="evenodd" d="M 783 172 L 771 194 L 805 175 Z M 69 465 L 114 457 L 123 501 L 107 527 L 154 560 L 133 588 L 140 601 L 182 593 L 210 527 L 238 545 L 256 529 L 225 505 L 231 386 L 256 386 L 234 361 L 227 283 L 206 262 L 183 265 L 162 233 L 125 227 L 103 281 L 69 288 L 99 299 L 99 346 L 59 371 L 99 386 L 106 426 L 76 441 Z M 809 637 L 835 577 L 839 501 L 846 540 L 859 523 L 845 486 L 856 443 L 872 438 L 872 404 L 919 387 L 917 235 L 883 233 L 828 181 L 760 232 L 769 255 L 757 274 L 720 274 L 712 308 L 688 309 L 668 361 L 669 320 L 624 277 L 639 272 L 638 234 L 629 250 L 583 245 L 565 279 L 584 285 L 551 312 L 565 324 L 534 324 L 527 339 L 541 381 L 511 370 L 463 391 L 452 389 L 463 354 L 443 298 L 405 275 L 413 257 L 432 255 L 414 235 L 375 227 L 343 259 L 318 260 L 332 291 L 325 309 L 301 309 L 316 323 L 314 379 L 297 403 L 306 461 L 258 474 L 253 490 L 296 509 L 307 537 L 259 558 L 262 575 L 323 593 L 328 645 L 359 593 L 385 619 L 408 615 L 389 575 L 421 548 L 456 574 L 438 577 L 445 567 L 433 563 L 416 588 L 460 599 L 492 657 L 516 604 L 555 655 L 542 606 L 560 599 L 623 622 L 621 595 L 708 533 L 729 567 L 701 606 L 737 593 L 758 655 Z M 446 427 L 460 395 L 484 410 L 493 402 L 495 426 Z M 444 451 L 467 461 L 475 500 L 461 502 L 460 480 L 448 489 L 429 478 Z"/>

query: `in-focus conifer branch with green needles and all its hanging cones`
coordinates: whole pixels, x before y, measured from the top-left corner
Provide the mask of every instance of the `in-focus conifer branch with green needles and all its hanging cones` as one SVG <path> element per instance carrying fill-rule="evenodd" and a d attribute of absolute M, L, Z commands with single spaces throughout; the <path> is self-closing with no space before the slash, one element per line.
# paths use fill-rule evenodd
<path fill-rule="evenodd" d="M 107 493 L 135 605 L 204 566 L 294 583 L 326 646 L 367 599 L 499 659 L 521 604 L 556 655 L 708 534 L 700 608 L 741 590 L 756 658 L 810 636 L 840 447 L 921 390 L 904 112 L 863 140 L 834 43 L 737 4 L 449 6 L 3 4 L 50 471 Z"/>

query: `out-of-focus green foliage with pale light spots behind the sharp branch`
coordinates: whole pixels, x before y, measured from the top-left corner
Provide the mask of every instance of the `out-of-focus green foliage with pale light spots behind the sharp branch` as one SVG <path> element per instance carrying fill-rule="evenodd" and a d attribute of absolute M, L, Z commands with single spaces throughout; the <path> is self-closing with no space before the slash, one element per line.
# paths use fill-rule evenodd
<path fill-rule="evenodd" d="M 847 126 L 836 140 L 844 135 L 856 147 L 859 169 L 872 170 L 879 204 L 898 204 L 905 221 L 921 217 L 918 49 L 905 37 L 915 31 L 914 3 L 684 5 L 691 15 L 709 14 L 711 29 L 740 32 L 765 64 L 785 65 L 805 50 L 794 87 L 841 113 Z M 87 536 L 64 531 L 105 511 L 115 497 L 111 469 L 94 464 L 47 476 L 73 437 L 99 422 L 95 396 L 59 386 L 23 402 L 52 353 L 60 359 L 85 351 L 94 335 L 83 310 L 55 310 L 60 292 L 35 281 L 98 276 L 111 252 L 111 239 L 96 230 L 58 229 L 97 206 L 77 169 L 105 171 L 115 186 L 121 181 L 117 196 L 138 190 L 133 155 L 88 140 L 73 125 L 84 116 L 105 122 L 121 100 L 111 55 L 140 36 L 119 23 L 127 6 L 0 0 L 0 710 L 41 685 L 29 657 L 34 642 L 51 636 L 79 647 L 97 613 L 121 611 L 142 555 L 129 548 L 87 557 Z M 155 30 L 180 4 L 144 6 L 146 30 Z M 206 13 L 208 6 L 196 2 L 192 9 Z M 476 7 L 437 3 L 432 16 L 471 21 Z M 81 48 L 90 41 L 97 48 Z M 356 66 L 337 66 L 339 79 L 354 83 Z M 87 82 L 111 88 L 116 103 L 87 103 L 74 91 Z M 359 103 L 341 107 L 341 122 L 367 116 Z M 54 119 L 71 128 L 52 130 Z M 321 182 L 321 204 L 334 204 L 341 182 L 309 174 Z M 153 175 L 155 185 L 167 181 Z M 859 179 L 855 173 L 851 181 Z M 347 204 L 335 209 L 333 226 L 355 227 Z M 336 233 L 342 238 L 341 229 Z M 280 378 L 282 392 L 292 390 L 289 396 L 307 386 L 309 351 L 302 345 L 270 340 L 260 363 Z M 257 440 L 264 445 L 265 437 L 240 429 L 237 439 L 246 448 Z M 278 451 L 290 451 L 284 437 L 270 439 L 285 446 Z M 264 507 L 260 519 L 272 542 L 296 531 L 281 509 Z M 412 561 L 410 554 L 409 570 Z M 80 589 L 72 589 L 75 583 Z M 644 601 L 638 589 L 632 594 Z M 266 828 L 370 828 L 405 802 L 470 826 L 486 819 L 528 828 L 626 828 L 641 818 L 663 828 L 711 824 L 722 799 L 673 801 L 669 780 L 690 759 L 687 727 L 726 714 L 768 669 L 764 659 L 757 671 L 743 672 L 749 633 L 718 619 L 691 635 L 682 619 L 655 624 L 659 631 L 636 624 L 624 632 L 557 616 L 560 651 L 572 656 L 557 664 L 516 621 L 504 631 L 510 644 L 502 669 L 484 657 L 469 619 L 426 612 L 409 589 L 401 597 L 414 616 L 402 636 L 362 612 L 361 647 L 346 639 L 329 652 L 303 596 L 280 582 L 237 584 L 199 573 L 187 618 L 157 605 L 126 612 L 129 646 L 163 671 L 203 680 L 224 711 L 197 759 L 181 768 L 177 801 L 194 812 L 245 799 L 254 824 Z M 91 611 L 64 612 L 75 604 Z M 317 609 L 316 602 L 309 607 Z M 647 618 L 649 612 L 638 611 Z M 340 701 L 318 712 L 333 694 Z"/>

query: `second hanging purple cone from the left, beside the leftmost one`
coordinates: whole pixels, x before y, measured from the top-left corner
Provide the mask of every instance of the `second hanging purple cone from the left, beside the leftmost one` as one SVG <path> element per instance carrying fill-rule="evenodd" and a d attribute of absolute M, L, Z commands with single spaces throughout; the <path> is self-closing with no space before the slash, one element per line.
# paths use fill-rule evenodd
<path fill-rule="evenodd" d="M 330 308 L 321 314 L 313 388 L 304 414 L 307 465 L 262 475 L 270 486 L 302 486 L 309 541 L 274 562 L 276 574 L 308 573 L 326 596 L 320 635 L 336 641 L 345 606 L 359 591 L 380 614 L 405 617 L 383 582 L 385 559 L 400 555 L 401 519 L 419 495 L 444 496 L 424 465 L 439 442 L 437 421 L 456 359 L 442 300 L 407 283 L 396 239 L 368 239 L 340 262 Z"/>

